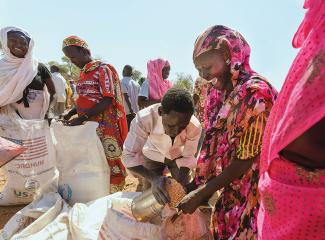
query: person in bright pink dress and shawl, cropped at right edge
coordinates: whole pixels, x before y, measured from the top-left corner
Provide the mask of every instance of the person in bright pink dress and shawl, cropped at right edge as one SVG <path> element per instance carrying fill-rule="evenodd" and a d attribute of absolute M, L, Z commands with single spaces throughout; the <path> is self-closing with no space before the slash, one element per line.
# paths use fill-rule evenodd
<path fill-rule="evenodd" d="M 259 239 L 325 239 L 325 2 L 304 8 L 292 42 L 301 50 L 263 138 Z"/>

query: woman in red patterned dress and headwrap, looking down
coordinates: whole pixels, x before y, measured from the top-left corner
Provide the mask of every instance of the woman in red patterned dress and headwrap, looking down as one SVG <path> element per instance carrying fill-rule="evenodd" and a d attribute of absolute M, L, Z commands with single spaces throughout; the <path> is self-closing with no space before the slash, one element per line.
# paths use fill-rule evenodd
<path fill-rule="evenodd" d="M 69 120 L 78 114 L 77 118 L 68 122 L 70 126 L 81 125 L 88 120 L 99 123 L 97 133 L 111 169 L 110 191 L 122 191 L 126 172 L 121 155 L 128 128 L 118 74 L 113 66 L 93 60 L 87 43 L 79 37 L 64 39 L 62 51 L 81 69 L 76 108 L 64 118 Z"/>

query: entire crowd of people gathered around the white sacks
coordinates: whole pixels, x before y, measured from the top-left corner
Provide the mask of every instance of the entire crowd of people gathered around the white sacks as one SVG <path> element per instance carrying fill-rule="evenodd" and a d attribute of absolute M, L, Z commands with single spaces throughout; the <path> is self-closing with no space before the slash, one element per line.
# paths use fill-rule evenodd
<path fill-rule="evenodd" d="M 127 172 L 170 201 L 166 169 L 187 195 L 178 204 L 192 214 L 219 191 L 211 215 L 215 239 L 325 238 L 325 3 L 307 0 L 293 38 L 300 48 L 278 94 L 250 66 L 250 46 L 236 30 L 215 25 L 194 44 L 199 78 L 194 92 L 173 88 L 170 63 L 147 63 L 141 84 L 126 65 L 94 60 L 83 39 L 63 40 L 80 68 L 78 97 L 65 111 L 68 84 L 57 66 L 33 55 L 23 29 L 0 31 L 0 107 L 23 119 L 50 118 L 68 126 L 99 123 L 111 169 L 110 192 L 122 191 Z M 52 106 L 52 107 L 50 107 Z"/>

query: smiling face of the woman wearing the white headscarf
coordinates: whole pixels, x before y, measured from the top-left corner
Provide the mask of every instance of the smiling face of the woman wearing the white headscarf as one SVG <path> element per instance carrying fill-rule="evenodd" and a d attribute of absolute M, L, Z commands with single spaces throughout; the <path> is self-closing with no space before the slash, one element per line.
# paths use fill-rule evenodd
<path fill-rule="evenodd" d="M 24 58 L 28 52 L 30 39 L 20 32 L 7 33 L 7 46 L 17 58 Z"/>

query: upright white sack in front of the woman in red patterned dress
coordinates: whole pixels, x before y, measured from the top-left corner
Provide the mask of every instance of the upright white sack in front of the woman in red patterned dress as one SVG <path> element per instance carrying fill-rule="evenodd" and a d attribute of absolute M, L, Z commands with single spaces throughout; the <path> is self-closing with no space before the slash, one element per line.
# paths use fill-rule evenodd
<path fill-rule="evenodd" d="M 59 193 L 73 205 L 109 195 L 110 169 L 103 145 L 97 136 L 97 122 L 64 126 L 53 121 Z"/>

